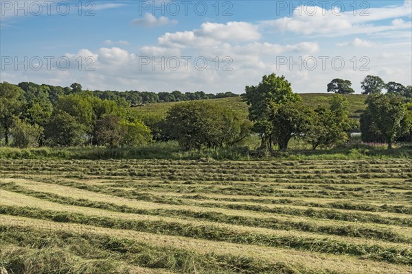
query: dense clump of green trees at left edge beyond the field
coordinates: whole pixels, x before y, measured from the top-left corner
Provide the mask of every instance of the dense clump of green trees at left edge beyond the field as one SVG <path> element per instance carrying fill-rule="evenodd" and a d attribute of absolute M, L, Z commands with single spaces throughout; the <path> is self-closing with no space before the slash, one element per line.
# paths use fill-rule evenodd
<path fill-rule="evenodd" d="M 124 100 L 76 90 L 56 94 L 47 85 L 0 83 L 0 123 L 5 145 L 73 147 L 143 145 L 150 129 Z"/>

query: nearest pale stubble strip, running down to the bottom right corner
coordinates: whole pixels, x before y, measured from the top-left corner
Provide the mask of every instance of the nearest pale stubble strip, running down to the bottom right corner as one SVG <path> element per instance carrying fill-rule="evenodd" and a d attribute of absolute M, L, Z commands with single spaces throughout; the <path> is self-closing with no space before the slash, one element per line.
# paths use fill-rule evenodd
<path fill-rule="evenodd" d="M 27 219 L 15 216 L 0 215 L 0 221 L 3 225 L 11 227 L 22 227 L 21 229 L 30 229 L 36 227 L 48 233 L 53 232 L 70 232 L 77 234 L 101 235 L 105 237 L 139 239 L 149 245 L 161 247 L 174 247 L 195 251 L 201 254 L 214 253 L 216 255 L 240 256 L 247 258 L 257 258 L 268 264 L 277 264 L 278 262 L 286 263 L 293 266 L 301 273 L 310 273 L 309 271 L 319 271 L 327 269 L 332 273 L 409 273 L 410 267 L 396 264 L 387 264 L 385 262 L 374 262 L 370 260 L 356 260 L 352 256 L 335 256 L 325 253 L 302 252 L 292 249 L 273 249 L 270 247 L 257 247 L 253 245 L 238 245 L 228 242 L 214 242 L 201 239 L 188 239 L 179 236 L 146 234 L 144 232 L 133 232 L 119 229 L 109 229 L 95 227 L 91 225 L 78 225 L 71 223 L 56 223 L 51 221 L 42 221 L 38 219 Z M 196 262 L 196 261 L 195 261 Z M 301 270 L 302 269 L 302 270 Z"/>

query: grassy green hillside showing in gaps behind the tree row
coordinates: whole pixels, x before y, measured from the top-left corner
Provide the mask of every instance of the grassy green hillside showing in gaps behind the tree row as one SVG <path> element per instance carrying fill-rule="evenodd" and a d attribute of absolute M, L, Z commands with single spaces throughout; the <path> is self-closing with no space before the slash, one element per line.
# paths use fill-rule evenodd
<path fill-rule="evenodd" d="M 330 97 L 333 94 L 329 93 L 306 93 L 301 94 L 301 97 L 304 99 L 304 103 L 310 107 L 317 107 L 317 105 L 327 105 Z M 362 110 L 365 108 L 365 99 L 366 95 L 345 95 L 350 105 L 350 116 L 352 118 L 359 118 Z M 220 98 L 220 99 L 208 99 L 211 103 L 216 103 L 224 108 L 229 108 L 234 112 L 238 113 L 240 116 L 247 117 L 247 104 L 242 101 L 242 97 L 229 97 L 229 98 Z M 136 107 L 135 110 L 141 112 L 144 115 L 161 115 L 165 116 L 168 109 L 172 105 L 178 102 L 170 103 L 150 103 L 144 106 Z"/>

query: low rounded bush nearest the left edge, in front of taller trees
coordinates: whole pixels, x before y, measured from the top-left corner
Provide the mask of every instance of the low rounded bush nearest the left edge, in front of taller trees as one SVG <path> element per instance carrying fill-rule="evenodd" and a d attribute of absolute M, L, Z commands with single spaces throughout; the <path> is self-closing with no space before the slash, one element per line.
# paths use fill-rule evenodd
<path fill-rule="evenodd" d="M 15 147 L 36 147 L 38 145 L 38 139 L 43 134 L 43 127 L 31 125 L 26 121 L 21 121 L 21 119 L 16 118 L 14 119 L 10 133 L 14 138 Z"/>

